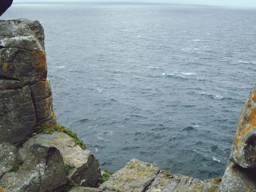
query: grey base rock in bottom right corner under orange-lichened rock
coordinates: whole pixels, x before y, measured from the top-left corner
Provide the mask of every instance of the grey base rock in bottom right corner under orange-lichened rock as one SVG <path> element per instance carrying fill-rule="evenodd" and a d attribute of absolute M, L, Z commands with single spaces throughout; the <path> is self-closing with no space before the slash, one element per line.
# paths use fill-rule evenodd
<path fill-rule="evenodd" d="M 231 163 L 222 177 L 219 192 L 255 192 L 256 170 L 244 169 Z"/>

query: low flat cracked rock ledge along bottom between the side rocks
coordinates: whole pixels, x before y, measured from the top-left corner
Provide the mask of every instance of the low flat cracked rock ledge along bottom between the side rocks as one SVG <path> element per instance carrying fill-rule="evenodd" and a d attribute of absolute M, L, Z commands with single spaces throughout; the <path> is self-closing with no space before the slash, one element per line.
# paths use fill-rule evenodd
<path fill-rule="evenodd" d="M 113 174 L 99 186 L 102 191 L 218 191 L 220 180 L 201 181 L 181 174 L 170 174 L 157 166 L 137 159 Z"/>

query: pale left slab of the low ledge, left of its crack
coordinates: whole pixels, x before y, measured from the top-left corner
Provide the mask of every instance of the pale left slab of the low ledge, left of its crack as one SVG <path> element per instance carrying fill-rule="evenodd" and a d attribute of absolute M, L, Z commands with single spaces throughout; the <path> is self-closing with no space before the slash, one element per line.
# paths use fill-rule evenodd
<path fill-rule="evenodd" d="M 157 166 L 137 159 L 113 174 L 108 181 L 99 186 L 103 191 L 145 191 L 159 172 Z"/>

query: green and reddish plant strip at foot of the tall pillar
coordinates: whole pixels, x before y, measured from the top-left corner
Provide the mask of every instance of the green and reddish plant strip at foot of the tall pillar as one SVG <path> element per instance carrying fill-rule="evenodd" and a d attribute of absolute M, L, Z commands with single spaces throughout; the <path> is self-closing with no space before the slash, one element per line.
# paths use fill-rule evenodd
<path fill-rule="evenodd" d="M 71 129 L 65 126 L 59 125 L 58 123 L 40 123 L 35 128 L 35 134 L 53 134 L 55 131 L 67 134 L 69 137 L 72 137 L 75 140 L 75 143 L 79 145 L 83 150 L 86 149 L 86 145 L 82 140 L 78 138 L 78 134 L 74 133 L 71 131 Z"/>

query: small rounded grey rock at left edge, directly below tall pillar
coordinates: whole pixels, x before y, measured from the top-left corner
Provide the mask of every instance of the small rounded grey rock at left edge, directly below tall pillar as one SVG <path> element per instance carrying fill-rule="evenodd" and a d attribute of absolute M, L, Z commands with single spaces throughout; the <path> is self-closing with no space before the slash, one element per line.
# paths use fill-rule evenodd
<path fill-rule="evenodd" d="M 10 143 L 0 144 L 0 179 L 1 177 L 10 172 L 13 166 L 20 164 L 18 156 L 18 148 Z"/>

